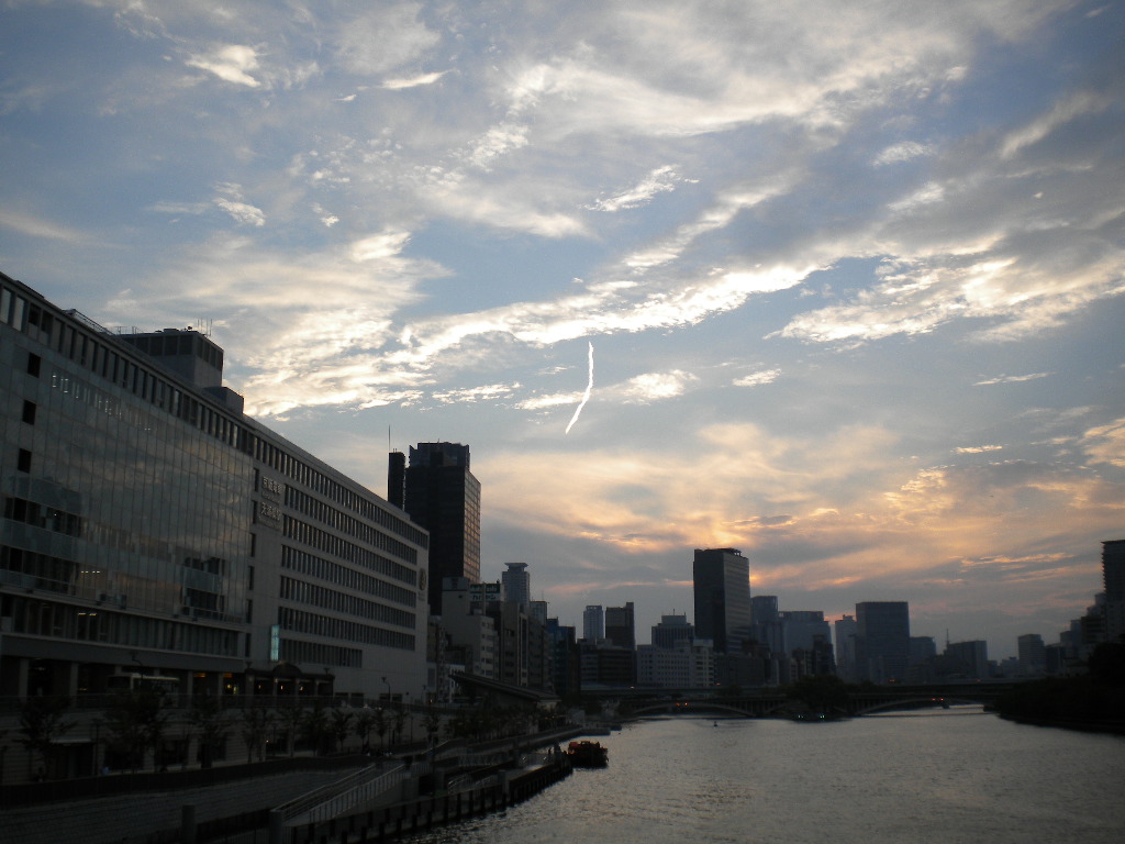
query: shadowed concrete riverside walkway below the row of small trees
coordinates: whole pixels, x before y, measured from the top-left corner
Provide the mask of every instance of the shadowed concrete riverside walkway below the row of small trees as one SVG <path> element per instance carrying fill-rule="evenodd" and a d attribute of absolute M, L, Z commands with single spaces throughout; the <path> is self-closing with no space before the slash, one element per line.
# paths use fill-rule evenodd
<path fill-rule="evenodd" d="M 119 794 L 43 803 L 0 811 L 3 844 L 140 844 L 153 833 L 179 829 L 181 808 L 196 807 L 196 821 L 271 809 L 350 773 L 300 771 L 207 788 Z M 264 841 L 264 838 L 263 838 Z"/>

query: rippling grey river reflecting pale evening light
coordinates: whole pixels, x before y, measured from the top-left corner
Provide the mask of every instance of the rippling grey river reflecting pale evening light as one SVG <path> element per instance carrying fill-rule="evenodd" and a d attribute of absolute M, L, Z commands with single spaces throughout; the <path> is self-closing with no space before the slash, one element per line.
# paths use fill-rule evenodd
<path fill-rule="evenodd" d="M 1125 738 L 979 707 L 799 724 L 666 718 L 512 809 L 411 844 L 1120 844 Z"/>

